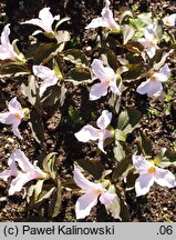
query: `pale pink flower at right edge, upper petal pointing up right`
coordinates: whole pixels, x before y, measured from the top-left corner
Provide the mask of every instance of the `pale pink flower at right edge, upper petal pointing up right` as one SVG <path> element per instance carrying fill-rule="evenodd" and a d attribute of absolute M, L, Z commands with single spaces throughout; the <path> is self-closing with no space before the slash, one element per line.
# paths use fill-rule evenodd
<path fill-rule="evenodd" d="M 151 76 L 149 79 L 142 82 L 138 88 L 137 92 L 139 94 L 147 94 L 148 97 L 157 97 L 161 94 L 163 90 L 162 82 L 167 81 L 168 77 L 170 74 L 170 69 L 168 68 L 168 64 L 165 64 L 163 68 L 159 69 L 158 72 L 155 72 Z"/>

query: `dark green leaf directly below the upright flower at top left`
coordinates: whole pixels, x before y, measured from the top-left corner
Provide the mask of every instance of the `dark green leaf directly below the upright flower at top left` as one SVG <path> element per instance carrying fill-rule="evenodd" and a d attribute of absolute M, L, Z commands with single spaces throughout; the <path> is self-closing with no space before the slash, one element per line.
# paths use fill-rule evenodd
<path fill-rule="evenodd" d="M 56 54 L 56 50 L 59 49 L 60 44 L 58 43 L 42 43 L 37 49 L 34 57 L 33 57 L 33 64 L 44 64 L 50 59 L 52 59 Z"/>

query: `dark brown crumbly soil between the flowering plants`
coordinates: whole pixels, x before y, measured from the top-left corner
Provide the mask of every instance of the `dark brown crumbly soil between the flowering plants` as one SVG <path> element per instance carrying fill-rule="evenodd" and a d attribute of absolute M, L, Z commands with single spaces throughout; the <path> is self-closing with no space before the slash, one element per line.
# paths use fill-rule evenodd
<path fill-rule="evenodd" d="M 138 11 L 152 11 L 157 13 L 174 13 L 176 12 L 175 1 L 163 0 L 144 0 L 144 1 L 113 1 L 114 9 L 120 7 L 138 6 Z M 38 17 L 39 11 L 43 7 L 50 7 L 53 14 L 60 14 L 61 18 L 71 17 L 71 23 L 68 28 L 80 41 L 79 48 L 85 51 L 86 56 L 92 60 L 95 57 L 93 47 L 95 43 L 96 32 L 85 31 L 84 27 L 101 13 L 103 1 L 99 0 L 7 0 L 0 2 L 0 30 L 7 22 L 11 23 L 11 38 L 20 40 L 19 47 L 21 51 L 25 52 L 29 44 L 29 36 L 32 34 L 34 27 L 20 26 L 19 23 Z M 115 11 L 116 18 L 117 11 Z M 91 47 L 91 48 L 87 48 Z M 175 62 L 169 62 L 175 77 Z M 174 86 L 173 86 L 174 84 Z M 174 88 L 176 91 L 176 83 L 168 83 L 168 88 Z M 74 132 L 80 130 L 80 123 L 73 122 L 69 116 L 69 108 L 72 106 L 79 110 L 82 116 L 83 124 L 91 121 L 90 112 L 100 116 L 102 109 L 108 108 L 107 99 L 104 97 L 95 102 L 87 101 L 89 93 L 86 87 L 73 87 L 68 84 L 66 99 L 63 107 L 59 107 L 54 113 L 50 110 L 45 114 L 45 149 L 46 152 L 58 152 L 58 169 L 61 181 L 72 178 L 73 161 L 76 159 L 103 161 L 103 156 L 96 154 L 96 147 L 90 143 L 80 143 L 74 138 Z M 20 102 L 24 102 L 24 97 L 19 89 L 19 82 L 13 79 L 0 78 L 0 111 L 6 108 L 6 101 L 12 97 L 18 96 Z M 173 104 L 174 104 L 173 99 Z M 104 103 L 105 102 L 105 103 Z M 166 116 L 164 112 L 164 103 L 161 99 L 148 100 L 145 97 L 139 99 L 135 90 L 127 92 L 122 99 L 122 106 L 125 108 L 135 108 L 143 112 L 143 120 L 141 128 L 145 129 L 147 136 L 153 141 L 154 154 L 158 153 L 164 147 L 175 147 L 176 134 L 175 118 L 172 114 Z M 87 111 L 89 109 L 89 111 Z M 152 109 L 148 113 L 148 109 Z M 22 122 L 20 126 L 23 140 L 19 141 L 12 136 L 9 127 L 0 124 L 0 169 L 7 166 L 7 160 L 13 149 L 20 148 L 27 157 L 35 160 L 42 153 L 42 148 L 31 137 L 31 129 L 28 122 Z M 105 168 L 113 164 L 111 161 L 106 162 Z M 175 169 L 172 169 L 175 172 Z M 46 217 L 40 217 L 35 210 L 25 211 L 25 191 L 8 197 L 8 184 L 0 180 L 0 221 L 50 221 Z M 130 221 L 176 221 L 176 189 L 168 190 L 155 186 L 145 197 L 135 197 L 134 190 L 126 192 L 126 201 L 130 206 L 131 218 Z M 76 221 L 74 213 L 74 204 L 77 199 L 77 193 L 64 191 L 62 209 L 54 221 Z M 106 214 L 104 207 L 97 204 L 91 211 L 90 217 L 84 221 L 114 221 L 113 218 Z"/>

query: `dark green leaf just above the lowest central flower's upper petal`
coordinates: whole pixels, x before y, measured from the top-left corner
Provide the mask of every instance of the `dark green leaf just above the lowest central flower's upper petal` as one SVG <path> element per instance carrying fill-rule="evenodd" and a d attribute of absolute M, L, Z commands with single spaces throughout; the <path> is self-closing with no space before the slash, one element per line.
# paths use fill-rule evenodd
<path fill-rule="evenodd" d="M 102 177 L 102 172 L 104 171 L 104 167 L 100 161 L 79 159 L 79 160 L 75 160 L 75 162 L 81 168 L 89 171 L 90 174 L 92 174 L 94 177 L 94 179 L 99 180 Z"/>

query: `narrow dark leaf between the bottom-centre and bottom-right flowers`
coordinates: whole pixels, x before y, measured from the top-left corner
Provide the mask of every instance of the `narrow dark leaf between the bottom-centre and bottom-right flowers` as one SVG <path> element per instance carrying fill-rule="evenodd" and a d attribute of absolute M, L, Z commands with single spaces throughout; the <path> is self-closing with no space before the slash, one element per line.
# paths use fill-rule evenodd
<path fill-rule="evenodd" d="M 122 178 L 125 171 L 131 166 L 132 166 L 132 156 L 126 156 L 124 159 L 118 161 L 113 172 L 113 177 L 112 177 L 113 181 L 117 181 L 120 178 Z"/>

